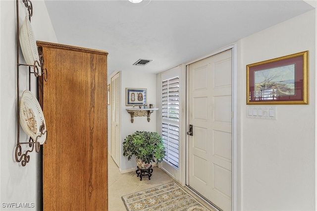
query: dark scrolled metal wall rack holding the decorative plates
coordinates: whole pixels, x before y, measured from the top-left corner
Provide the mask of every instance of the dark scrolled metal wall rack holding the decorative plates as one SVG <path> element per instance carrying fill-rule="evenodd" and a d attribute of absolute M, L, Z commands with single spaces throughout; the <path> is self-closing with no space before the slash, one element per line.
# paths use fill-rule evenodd
<path fill-rule="evenodd" d="M 28 10 L 28 17 L 31 21 L 31 17 L 33 15 L 33 7 L 32 2 L 30 0 L 22 0 L 25 7 Z M 25 166 L 26 163 L 30 161 L 30 155 L 28 153 L 33 152 L 34 148 L 35 151 L 38 153 L 40 151 L 40 143 L 38 142 L 38 138 L 42 137 L 44 134 L 47 133 L 46 125 L 43 124 L 40 126 L 40 133 L 36 136 L 36 138 L 32 138 L 30 136 L 29 142 L 20 142 L 20 86 L 19 86 L 19 67 L 22 66 L 28 66 L 29 68 L 29 90 L 31 90 L 31 74 L 34 74 L 35 77 L 38 77 L 40 75 L 43 76 L 44 80 L 47 81 L 48 74 L 47 69 L 43 68 L 44 65 L 44 58 L 43 54 L 40 52 L 39 54 L 39 61 L 35 60 L 33 65 L 29 64 L 20 64 L 19 63 L 19 48 L 20 48 L 20 41 L 19 41 L 19 0 L 16 0 L 16 86 L 17 86 L 17 144 L 15 149 L 15 160 L 17 162 L 21 162 L 22 166 Z M 33 72 L 31 71 L 31 67 L 33 67 Z M 41 71 L 41 72 L 40 72 Z M 35 140 L 34 140 L 35 139 Z M 46 142 L 46 140 L 45 140 Z M 22 145 L 28 145 L 29 148 L 26 151 L 23 151 Z"/>

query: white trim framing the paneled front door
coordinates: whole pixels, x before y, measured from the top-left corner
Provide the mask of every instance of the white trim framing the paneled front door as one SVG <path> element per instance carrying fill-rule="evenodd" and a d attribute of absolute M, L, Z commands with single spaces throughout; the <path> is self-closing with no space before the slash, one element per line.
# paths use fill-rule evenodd
<path fill-rule="evenodd" d="M 231 169 L 232 169 L 232 173 L 231 173 L 231 210 L 235 211 L 237 210 L 237 45 L 236 44 L 232 44 L 229 46 L 226 46 L 224 48 L 221 48 L 219 50 L 216 50 L 212 53 L 206 54 L 204 56 L 201 56 L 197 59 L 194 59 L 190 62 L 185 63 L 186 66 L 186 124 L 185 124 L 185 128 L 187 129 L 187 125 L 188 125 L 188 83 L 189 83 L 189 79 L 188 79 L 188 74 L 189 74 L 189 68 L 188 65 L 192 64 L 196 61 L 205 59 L 207 57 L 210 57 L 212 55 L 215 55 L 217 53 L 221 53 L 224 52 L 226 50 L 232 49 L 232 87 L 231 87 L 231 92 L 232 92 L 232 100 L 231 100 L 231 110 L 232 110 L 232 143 L 231 143 L 231 157 L 232 157 L 232 161 L 231 161 Z M 188 184 L 188 163 L 186 162 L 186 160 L 188 160 L 188 136 L 186 136 L 186 147 L 185 147 L 185 151 L 186 151 L 186 156 L 183 157 L 184 160 L 182 160 L 182 163 L 186 163 L 186 170 L 184 173 L 183 178 L 185 178 L 185 183 L 183 184 L 184 186 L 187 186 Z"/>

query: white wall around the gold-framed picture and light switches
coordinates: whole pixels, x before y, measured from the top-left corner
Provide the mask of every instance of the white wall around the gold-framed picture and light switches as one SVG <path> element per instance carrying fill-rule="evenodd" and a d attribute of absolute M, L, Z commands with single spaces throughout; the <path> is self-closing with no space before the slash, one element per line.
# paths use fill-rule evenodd
<path fill-rule="evenodd" d="M 312 10 L 238 42 L 241 210 L 315 210 L 315 13 Z M 246 118 L 246 65 L 307 50 L 309 105 L 276 105 L 277 120 Z"/>

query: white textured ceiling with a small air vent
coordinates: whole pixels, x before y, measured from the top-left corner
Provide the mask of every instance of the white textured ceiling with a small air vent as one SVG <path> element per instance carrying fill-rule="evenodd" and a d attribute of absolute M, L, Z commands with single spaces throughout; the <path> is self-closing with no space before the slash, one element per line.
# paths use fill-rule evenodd
<path fill-rule="evenodd" d="M 302 0 L 45 0 L 58 43 L 107 51 L 113 71 L 158 73 L 305 13 Z M 153 59 L 133 66 L 138 59 Z"/>

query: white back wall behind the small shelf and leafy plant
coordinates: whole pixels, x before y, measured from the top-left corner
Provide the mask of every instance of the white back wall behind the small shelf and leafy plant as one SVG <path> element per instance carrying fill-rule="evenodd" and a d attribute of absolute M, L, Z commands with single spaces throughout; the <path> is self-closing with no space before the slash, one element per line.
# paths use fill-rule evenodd
<path fill-rule="evenodd" d="M 146 66 L 144 67 L 144 72 L 131 72 L 122 71 L 121 72 L 121 113 L 120 113 L 120 126 L 121 126 L 121 143 L 123 143 L 125 137 L 135 131 L 156 131 L 157 127 L 157 115 L 151 114 L 151 121 L 148 122 L 146 116 L 134 117 L 134 122 L 131 123 L 131 116 L 126 111 L 126 108 L 131 108 L 132 106 L 125 106 L 125 88 L 141 88 L 147 89 L 148 91 L 148 106 L 149 104 L 157 104 L 156 90 L 157 90 L 157 75 L 146 73 Z M 126 157 L 123 157 L 122 144 L 121 147 L 121 166 L 120 170 L 124 171 L 131 168 L 136 168 L 136 162 L 134 159 L 128 161 Z"/>

